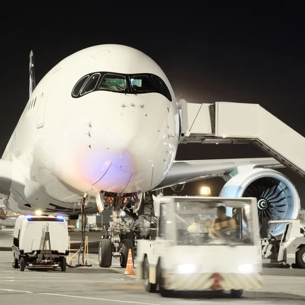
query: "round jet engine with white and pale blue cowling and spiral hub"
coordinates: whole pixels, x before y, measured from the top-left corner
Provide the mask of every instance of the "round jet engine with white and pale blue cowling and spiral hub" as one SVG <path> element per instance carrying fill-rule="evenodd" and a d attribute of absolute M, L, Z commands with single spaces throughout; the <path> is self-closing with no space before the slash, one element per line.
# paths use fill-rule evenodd
<path fill-rule="evenodd" d="M 255 167 L 255 166 L 254 166 Z M 238 169 L 237 169 L 238 170 Z M 268 220 L 297 219 L 300 198 L 292 182 L 268 168 L 240 168 L 220 192 L 221 197 L 256 197 L 260 225 Z M 271 234 L 283 233 L 285 224 L 271 226 Z"/>

